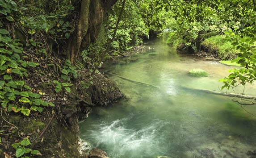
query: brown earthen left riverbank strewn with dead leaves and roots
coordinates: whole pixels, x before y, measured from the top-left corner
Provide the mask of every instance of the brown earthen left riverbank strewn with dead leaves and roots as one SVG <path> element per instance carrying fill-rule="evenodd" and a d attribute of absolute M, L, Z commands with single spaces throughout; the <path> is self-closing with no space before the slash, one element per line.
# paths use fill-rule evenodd
<path fill-rule="evenodd" d="M 29 152 L 21 153 L 22 156 L 33 157 L 30 151 L 38 151 L 38 155 L 46 158 L 83 157 L 78 150 L 79 119 L 92 112 L 93 107 L 111 104 L 123 94 L 113 81 L 101 74 L 90 75 L 85 68 L 76 69 L 76 78 L 62 79 L 63 69 L 59 67 L 67 66 L 67 62 L 29 52 L 29 58 L 22 59 L 28 63 L 36 59 L 38 66 L 28 68 L 23 81 L 40 95 L 42 103 L 37 107 L 42 107 L 42 111 L 30 109 L 29 116 L 25 116 L 14 108 L 0 109 L 0 157 L 17 157 L 19 147 L 13 144 L 23 140 L 29 140 L 22 148 Z M 46 102 L 51 105 L 46 106 Z"/>

